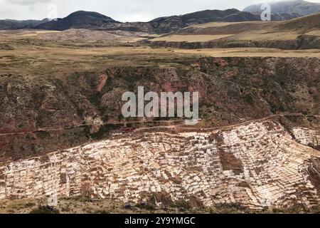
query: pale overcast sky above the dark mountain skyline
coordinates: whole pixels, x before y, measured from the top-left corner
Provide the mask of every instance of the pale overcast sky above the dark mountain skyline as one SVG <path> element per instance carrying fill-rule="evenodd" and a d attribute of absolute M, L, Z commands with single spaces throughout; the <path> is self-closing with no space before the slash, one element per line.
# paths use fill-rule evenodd
<path fill-rule="evenodd" d="M 0 19 L 53 18 L 55 12 L 56 17 L 62 18 L 73 11 L 85 10 L 97 11 L 117 21 L 149 21 L 203 9 L 242 10 L 250 4 L 267 1 L 270 0 L 0 0 Z"/>

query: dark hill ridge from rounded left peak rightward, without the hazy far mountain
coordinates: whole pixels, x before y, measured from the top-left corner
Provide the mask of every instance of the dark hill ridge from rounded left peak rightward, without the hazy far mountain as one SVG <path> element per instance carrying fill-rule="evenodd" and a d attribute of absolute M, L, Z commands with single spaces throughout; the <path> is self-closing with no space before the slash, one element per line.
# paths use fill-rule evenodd
<path fill-rule="evenodd" d="M 277 14 L 272 16 L 274 20 L 292 19 L 296 14 Z M 122 30 L 122 31 L 142 31 L 148 33 L 169 33 L 191 24 L 203 24 L 212 21 L 260 21 L 260 14 L 241 12 L 238 9 L 206 10 L 198 11 L 181 16 L 167 16 L 154 19 L 149 22 L 127 22 L 119 23 L 107 16 L 93 12 L 78 11 L 64 19 L 49 21 L 45 24 L 34 26 L 36 29 L 65 30 L 70 28 Z"/>

